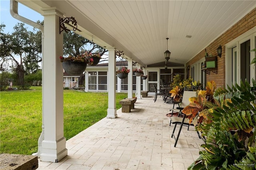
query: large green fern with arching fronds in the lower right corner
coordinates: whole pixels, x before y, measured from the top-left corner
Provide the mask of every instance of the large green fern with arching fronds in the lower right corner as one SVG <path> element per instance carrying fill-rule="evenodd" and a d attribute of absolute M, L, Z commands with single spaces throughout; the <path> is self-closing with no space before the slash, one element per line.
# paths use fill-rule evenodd
<path fill-rule="evenodd" d="M 214 105 L 206 102 L 206 107 L 214 106 L 218 107 L 213 113 L 208 112 L 209 109 L 201 111 L 202 115 L 210 115 L 207 117 L 210 123 L 203 122 L 196 127 L 207 137 L 206 144 L 201 147 L 208 150 L 200 151 L 200 163 L 194 164 L 194 168 L 198 165 L 198 169 L 237 170 L 241 167 L 233 166 L 234 163 L 253 162 L 252 169 L 255 169 L 256 81 L 252 79 L 251 84 L 245 81 L 227 89 L 216 89 Z M 251 146 L 254 149 L 248 152 Z"/>

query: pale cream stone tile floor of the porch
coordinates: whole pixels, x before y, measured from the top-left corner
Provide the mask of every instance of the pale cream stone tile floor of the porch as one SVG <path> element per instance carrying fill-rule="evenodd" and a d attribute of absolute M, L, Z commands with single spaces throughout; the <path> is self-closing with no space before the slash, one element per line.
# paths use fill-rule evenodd
<path fill-rule="evenodd" d="M 58 163 L 39 162 L 37 170 L 184 170 L 199 157 L 194 127 L 182 128 L 176 148 L 169 126 L 170 104 L 154 96 L 137 99 L 131 113 L 117 110 L 66 142 L 68 155 Z M 176 131 L 179 130 L 179 125 Z"/>

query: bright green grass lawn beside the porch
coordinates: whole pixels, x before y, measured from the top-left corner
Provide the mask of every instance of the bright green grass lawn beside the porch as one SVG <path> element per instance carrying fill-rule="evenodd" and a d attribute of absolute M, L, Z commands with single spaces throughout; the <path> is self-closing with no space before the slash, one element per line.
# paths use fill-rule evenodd
<path fill-rule="evenodd" d="M 42 131 L 42 87 L 0 92 L 0 153 L 37 152 Z M 106 117 L 108 93 L 64 90 L 64 136 L 70 139 Z M 127 93 L 116 93 L 116 108 Z"/>

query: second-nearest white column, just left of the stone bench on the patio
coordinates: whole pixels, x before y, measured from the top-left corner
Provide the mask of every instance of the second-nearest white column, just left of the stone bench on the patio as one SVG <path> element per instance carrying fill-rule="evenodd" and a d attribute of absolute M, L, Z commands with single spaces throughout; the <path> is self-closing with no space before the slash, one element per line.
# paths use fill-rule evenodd
<path fill-rule="evenodd" d="M 116 49 L 108 48 L 108 114 L 107 118 L 116 118 Z"/>

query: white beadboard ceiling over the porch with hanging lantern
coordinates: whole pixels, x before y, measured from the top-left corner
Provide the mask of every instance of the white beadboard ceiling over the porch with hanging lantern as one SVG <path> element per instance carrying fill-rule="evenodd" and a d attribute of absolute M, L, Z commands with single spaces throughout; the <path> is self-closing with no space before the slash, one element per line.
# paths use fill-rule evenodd
<path fill-rule="evenodd" d="M 56 7 L 75 17 L 88 40 L 114 46 L 142 65 L 186 63 L 256 8 L 255 0 L 18 0 L 42 13 Z M 186 38 L 191 36 L 191 38 Z M 219 44 L 223 45 L 223 44 Z M 217 48 L 218 46 L 216 46 Z"/>

